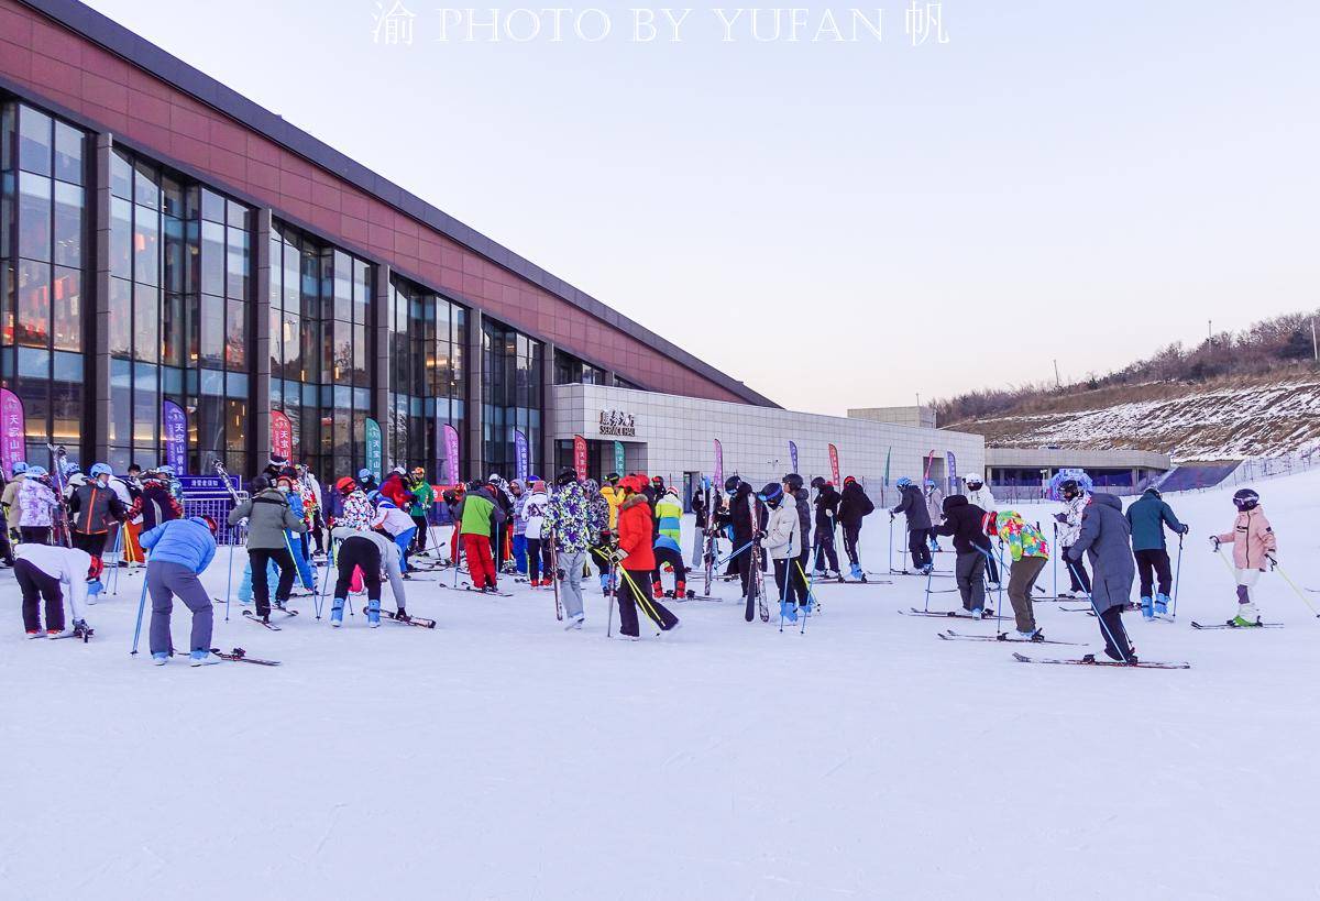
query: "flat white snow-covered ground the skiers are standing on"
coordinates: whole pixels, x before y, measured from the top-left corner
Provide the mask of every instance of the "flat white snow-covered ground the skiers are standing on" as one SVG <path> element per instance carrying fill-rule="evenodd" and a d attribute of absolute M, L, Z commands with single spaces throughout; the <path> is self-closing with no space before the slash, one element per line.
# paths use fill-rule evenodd
<path fill-rule="evenodd" d="M 1317 489 L 1263 495 L 1311 587 Z M 1206 542 L 1233 507 L 1168 499 L 1192 526 L 1179 622 L 1126 621 L 1189 671 L 937 641 L 994 625 L 898 616 L 924 602 L 911 577 L 821 588 L 805 634 L 743 622 L 721 585 L 730 602 L 677 604 L 684 628 L 639 643 L 605 638 L 598 592 L 565 633 L 549 593 L 414 581 L 434 631 L 335 631 L 304 601 L 275 634 L 235 608 L 215 643 L 284 666 L 157 668 L 128 655 L 140 576 L 82 645 L 26 641 L 5 573 L 0 897 L 1320 897 L 1320 621 L 1270 575 L 1259 602 L 1287 628 L 1193 631 L 1233 610 Z M 886 546 L 880 513 L 870 568 Z M 207 580 L 223 593 L 223 565 Z M 1098 650 L 1096 621 L 1055 606 L 1047 634 L 1090 647 L 1030 653 Z"/>

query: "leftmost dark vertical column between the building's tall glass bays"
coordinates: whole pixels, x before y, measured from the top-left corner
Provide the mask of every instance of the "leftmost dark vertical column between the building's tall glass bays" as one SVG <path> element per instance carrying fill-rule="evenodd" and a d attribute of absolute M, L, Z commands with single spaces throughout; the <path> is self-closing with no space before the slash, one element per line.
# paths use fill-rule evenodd
<path fill-rule="evenodd" d="M 88 436 L 92 445 L 92 460 L 110 457 L 110 159 L 115 137 L 110 133 L 96 135 L 95 159 L 92 161 L 92 192 L 90 205 L 92 221 L 92 254 L 95 273 L 92 280 L 92 345 L 88 362 L 87 384 L 91 388 L 88 407 L 91 414 Z M 87 423 L 87 415 L 83 415 Z M 133 424 L 117 423 L 121 428 Z M 124 436 L 120 436 L 124 441 Z M 124 441 L 127 444 L 127 441 Z M 87 444 L 87 437 L 83 439 Z M 86 448 L 83 448 L 86 449 Z M 81 458 L 87 457 L 81 454 Z"/>

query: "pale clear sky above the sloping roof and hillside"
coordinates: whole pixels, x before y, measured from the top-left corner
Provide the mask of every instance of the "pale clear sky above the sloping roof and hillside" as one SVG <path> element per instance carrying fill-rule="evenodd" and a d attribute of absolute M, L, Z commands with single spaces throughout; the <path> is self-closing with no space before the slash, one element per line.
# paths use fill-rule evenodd
<path fill-rule="evenodd" d="M 919 48 L 908 0 L 879 44 L 725 42 L 709 8 L 677 44 L 630 42 L 628 7 L 599 44 L 441 42 L 405 0 L 387 46 L 371 0 L 92 5 L 793 408 L 1320 305 L 1313 0 L 964 0 Z"/>

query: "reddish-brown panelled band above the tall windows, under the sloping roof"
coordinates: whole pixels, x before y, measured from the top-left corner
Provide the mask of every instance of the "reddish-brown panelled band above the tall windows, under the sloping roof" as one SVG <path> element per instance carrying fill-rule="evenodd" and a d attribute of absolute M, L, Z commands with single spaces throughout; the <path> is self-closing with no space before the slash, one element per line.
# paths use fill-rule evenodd
<path fill-rule="evenodd" d="M 0 77 L 622 378 L 667 394 L 743 402 L 16 0 L 0 0 Z"/>

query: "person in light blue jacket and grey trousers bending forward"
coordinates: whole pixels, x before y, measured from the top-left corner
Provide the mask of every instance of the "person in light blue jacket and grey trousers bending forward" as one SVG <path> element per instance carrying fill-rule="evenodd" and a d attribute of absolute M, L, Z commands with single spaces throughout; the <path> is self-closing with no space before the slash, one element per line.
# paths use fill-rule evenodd
<path fill-rule="evenodd" d="M 141 544 L 150 551 L 147 561 L 147 591 L 152 596 L 152 662 L 169 662 L 173 642 L 169 620 L 177 596 L 193 612 L 189 641 L 193 666 L 218 663 L 211 657 L 211 597 L 198 576 L 215 556 L 215 521 L 210 517 L 170 519 L 143 532 Z"/>

